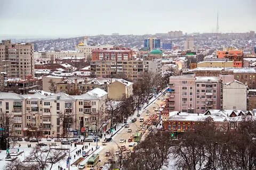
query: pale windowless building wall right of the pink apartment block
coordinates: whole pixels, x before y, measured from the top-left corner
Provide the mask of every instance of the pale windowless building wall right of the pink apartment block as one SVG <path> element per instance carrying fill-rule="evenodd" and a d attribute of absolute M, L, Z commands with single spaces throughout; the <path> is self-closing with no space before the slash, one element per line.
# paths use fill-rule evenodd
<path fill-rule="evenodd" d="M 224 83 L 222 87 L 222 107 L 223 109 L 247 109 L 247 87 L 242 82 L 233 80 Z"/>

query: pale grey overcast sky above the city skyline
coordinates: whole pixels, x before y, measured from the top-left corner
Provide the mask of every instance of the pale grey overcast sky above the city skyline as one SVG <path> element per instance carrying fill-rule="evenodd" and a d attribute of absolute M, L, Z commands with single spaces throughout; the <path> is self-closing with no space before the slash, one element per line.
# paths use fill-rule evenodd
<path fill-rule="evenodd" d="M 0 0 L 0 36 L 256 31 L 256 0 Z"/>

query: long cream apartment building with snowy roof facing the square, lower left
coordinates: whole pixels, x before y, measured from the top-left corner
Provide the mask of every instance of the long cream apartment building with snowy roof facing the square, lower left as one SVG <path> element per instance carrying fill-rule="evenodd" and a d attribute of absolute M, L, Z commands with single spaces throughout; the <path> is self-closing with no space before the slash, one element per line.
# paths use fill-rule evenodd
<path fill-rule="evenodd" d="M 105 121 L 106 99 L 107 92 L 99 88 L 80 96 L 63 93 L 18 95 L 13 92 L 0 92 L 0 112 L 12 116 L 13 135 L 19 137 L 26 136 L 30 127 L 42 129 L 44 137 L 61 137 L 64 131 L 59 114 L 70 114 L 72 121 L 69 130 L 70 137 L 73 137 L 81 134 L 82 128 L 86 129 L 85 135 L 95 132 L 96 113 Z"/>

